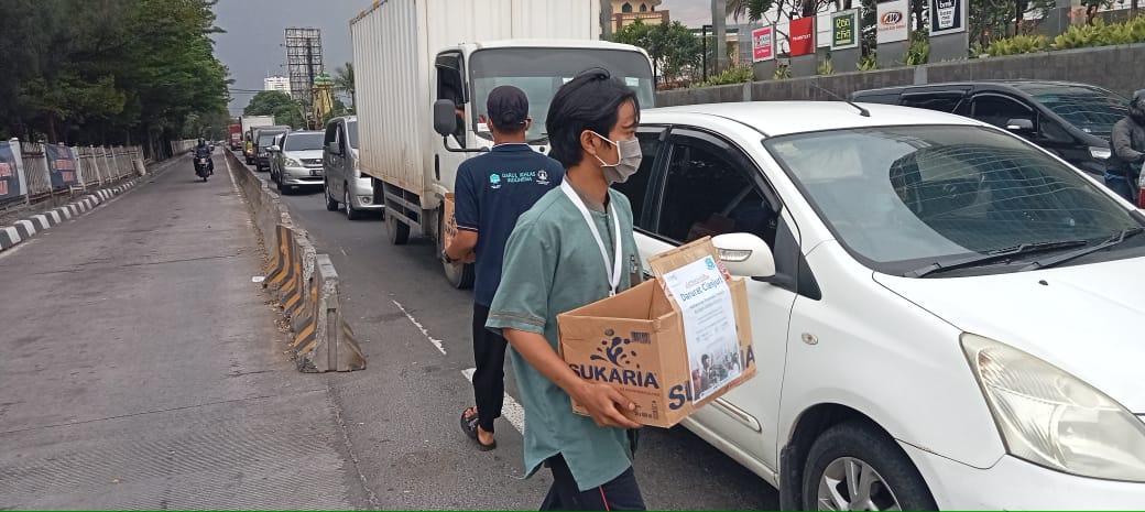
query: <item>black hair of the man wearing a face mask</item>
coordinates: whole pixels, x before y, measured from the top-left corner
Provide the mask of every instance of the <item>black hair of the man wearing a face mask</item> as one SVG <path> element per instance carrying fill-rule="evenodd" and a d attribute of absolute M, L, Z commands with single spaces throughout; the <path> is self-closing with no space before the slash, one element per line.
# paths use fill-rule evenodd
<path fill-rule="evenodd" d="M 566 168 L 581 163 L 581 133 L 591 129 L 602 136 L 616 126 L 619 108 L 632 101 L 640 119 L 637 93 L 603 69 L 592 69 L 561 86 L 548 108 L 545 127 L 552 150 L 548 156 Z"/>

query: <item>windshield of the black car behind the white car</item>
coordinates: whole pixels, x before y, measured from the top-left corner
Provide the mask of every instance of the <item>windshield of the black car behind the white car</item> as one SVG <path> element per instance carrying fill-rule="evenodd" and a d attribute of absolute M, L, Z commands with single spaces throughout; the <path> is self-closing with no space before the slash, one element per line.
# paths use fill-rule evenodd
<path fill-rule="evenodd" d="M 1082 86 L 1019 85 L 1039 103 L 1085 133 L 1108 139 L 1113 125 L 1128 115 L 1126 99 Z"/>

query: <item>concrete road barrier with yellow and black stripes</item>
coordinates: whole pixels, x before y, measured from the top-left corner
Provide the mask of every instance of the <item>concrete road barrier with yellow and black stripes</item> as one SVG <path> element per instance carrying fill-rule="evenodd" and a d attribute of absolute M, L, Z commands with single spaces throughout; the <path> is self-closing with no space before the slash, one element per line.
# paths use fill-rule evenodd
<path fill-rule="evenodd" d="M 294 225 L 278 194 L 234 153 L 228 151 L 227 159 L 267 251 L 262 285 L 274 293 L 287 320 L 290 348 L 299 371 L 365 369 L 365 356 L 354 330 L 338 307 L 338 271 L 330 257 L 317 253 L 306 230 Z"/>

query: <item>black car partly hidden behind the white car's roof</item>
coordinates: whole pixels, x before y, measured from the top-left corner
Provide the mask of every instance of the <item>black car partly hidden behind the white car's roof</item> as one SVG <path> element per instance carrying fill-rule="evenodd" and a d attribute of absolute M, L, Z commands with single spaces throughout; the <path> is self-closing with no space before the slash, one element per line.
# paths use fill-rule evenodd
<path fill-rule="evenodd" d="M 1097 86 L 1042 80 L 985 80 L 860 90 L 858 102 L 957 113 L 1010 129 L 1077 168 L 1101 175 L 1110 133 L 1128 100 Z"/>

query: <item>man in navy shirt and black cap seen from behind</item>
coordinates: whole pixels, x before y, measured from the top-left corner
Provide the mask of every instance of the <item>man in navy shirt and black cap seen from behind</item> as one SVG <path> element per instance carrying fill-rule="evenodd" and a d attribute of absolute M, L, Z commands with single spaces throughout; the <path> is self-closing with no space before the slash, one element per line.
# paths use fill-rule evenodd
<path fill-rule="evenodd" d="M 489 305 L 500 283 L 505 242 L 516 219 L 545 192 L 561 183 L 564 167 L 526 142 L 531 120 L 529 100 L 513 86 L 489 93 L 485 103 L 493 149 L 457 170 L 455 219 L 457 235 L 442 259 L 458 263 L 476 251 L 473 283 L 473 394 L 476 405 L 461 412 L 461 430 L 482 450 L 497 448 L 493 420 L 505 397 L 505 346 L 500 334 L 485 329 Z"/>

